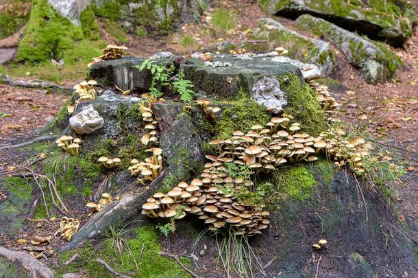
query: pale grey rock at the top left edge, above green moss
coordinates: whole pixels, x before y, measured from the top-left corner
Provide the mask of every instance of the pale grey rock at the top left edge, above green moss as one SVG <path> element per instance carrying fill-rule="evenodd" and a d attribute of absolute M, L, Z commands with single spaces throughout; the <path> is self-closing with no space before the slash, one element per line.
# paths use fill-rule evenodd
<path fill-rule="evenodd" d="M 48 0 L 48 2 L 75 25 L 79 25 L 79 16 L 90 5 L 90 0 Z"/>

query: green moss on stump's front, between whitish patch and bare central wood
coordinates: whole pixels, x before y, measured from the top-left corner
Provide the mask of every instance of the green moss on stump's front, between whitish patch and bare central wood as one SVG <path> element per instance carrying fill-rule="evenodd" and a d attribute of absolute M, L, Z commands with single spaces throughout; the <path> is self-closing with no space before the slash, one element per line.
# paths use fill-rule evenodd
<path fill-rule="evenodd" d="M 265 125 L 270 119 L 266 108 L 241 90 L 234 100 L 220 102 L 221 117 L 214 122 L 214 130 L 221 138 L 229 138 L 236 130 L 247 132 L 254 124 Z"/>

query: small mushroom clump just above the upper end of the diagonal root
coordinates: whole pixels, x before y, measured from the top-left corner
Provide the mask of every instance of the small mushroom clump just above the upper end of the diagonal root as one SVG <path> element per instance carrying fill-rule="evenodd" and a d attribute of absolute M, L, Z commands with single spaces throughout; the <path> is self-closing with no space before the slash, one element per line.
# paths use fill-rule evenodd
<path fill-rule="evenodd" d="M 132 176 L 138 176 L 138 174 L 143 176 L 143 178 L 138 178 L 141 185 L 145 185 L 147 181 L 155 180 L 160 176 L 162 170 L 162 150 L 160 148 L 150 148 L 145 152 L 152 152 L 152 156 L 147 157 L 145 161 L 132 159 L 132 166 L 128 168 Z"/>

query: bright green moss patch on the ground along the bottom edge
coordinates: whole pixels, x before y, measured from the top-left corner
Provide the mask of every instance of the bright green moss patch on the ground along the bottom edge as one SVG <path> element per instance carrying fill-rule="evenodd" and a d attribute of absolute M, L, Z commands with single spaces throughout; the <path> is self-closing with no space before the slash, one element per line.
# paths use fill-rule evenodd
<path fill-rule="evenodd" d="M 85 270 L 89 277 L 112 277 L 101 264 L 95 262 L 96 258 L 101 258 L 121 273 L 135 273 L 132 277 L 190 277 L 173 259 L 158 254 L 161 251 L 161 246 L 158 232 L 153 226 L 148 225 L 136 228 L 130 233 L 134 235 L 132 239 L 127 240 L 130 251 L 127 250 L 121 253 L 121 255 L 114 252 L 112 240 L 103 242 L 98 248 L 93 248 L 90 245 L 82 249 L 60 254 L 58 259 L 62 263 L 66 262 L 74 253 L 78 253 L 80 257 L 69 264 L 69 266 L 62 264 L 62 268 L 56 269 L 57 276 L 61 277 L 64 273 L 77 273 L 80 270 Z M 125 235 L 130 233 L 126 233 Z M 134 260 L 140 257 L 143 244 L 145 244 L 145 247 L 140 263 L 138 264 L 139 272 L 137 272 Z M 180 257 L 180 260 L 186 265 L 190 264 L 188 259 Z"/>

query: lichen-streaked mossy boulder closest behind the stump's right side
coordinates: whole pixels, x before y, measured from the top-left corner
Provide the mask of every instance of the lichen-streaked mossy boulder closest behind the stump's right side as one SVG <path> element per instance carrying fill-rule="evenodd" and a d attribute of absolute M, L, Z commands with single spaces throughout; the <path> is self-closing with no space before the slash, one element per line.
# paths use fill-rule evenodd
<path fill-rule="evenodd" d="M 287 56 L 319 66 L 323 75 L 331 73 L 337 66 L 329 43 L 298 34 L 273 19 L 260 19 L 251 38 L 269 40 L 271 49 L 284 47 L 288 50 Z"/>

